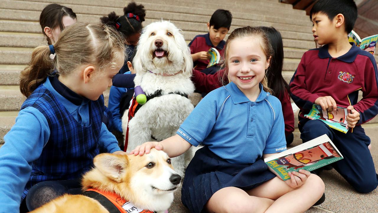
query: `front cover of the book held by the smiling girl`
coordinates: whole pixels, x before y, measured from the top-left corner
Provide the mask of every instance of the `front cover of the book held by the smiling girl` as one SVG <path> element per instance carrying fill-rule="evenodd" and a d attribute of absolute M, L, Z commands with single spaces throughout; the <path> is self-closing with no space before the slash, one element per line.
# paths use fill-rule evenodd
<path fill-rule="evenodd" d="M 339 153 L 329 142 L 266 162 L 282 179 L 290 179 L 287 172 L 305 169 L 312 171 L 341 160 Z"/>

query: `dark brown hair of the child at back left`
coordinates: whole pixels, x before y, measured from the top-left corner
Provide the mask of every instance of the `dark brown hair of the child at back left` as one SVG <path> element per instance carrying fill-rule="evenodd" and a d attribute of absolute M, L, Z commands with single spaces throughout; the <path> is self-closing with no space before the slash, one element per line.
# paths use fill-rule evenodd
<path fill-rule="evenodd" d="M 64 26 L 62 19 L 64 16 L 76 19 L 76 14 L 68 7 L 58 4 L 50 4 L 43 8 L 42 13 L 39 16 L 39 24 L 41 25 L 42 33 L 47 37 L 48 44 L 51 44 L 51 41 L 45 33 L 45 27 L 50 27 L 51 29 L 60 27 L 60 30 L 63 30 Z"/>

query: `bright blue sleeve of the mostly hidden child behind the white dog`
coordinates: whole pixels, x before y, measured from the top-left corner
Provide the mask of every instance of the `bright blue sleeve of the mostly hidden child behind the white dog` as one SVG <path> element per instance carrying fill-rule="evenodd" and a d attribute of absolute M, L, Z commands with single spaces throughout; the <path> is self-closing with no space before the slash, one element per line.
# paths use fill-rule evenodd
<path fill-rule="evenodd" d="M 113 128 L 119 132 L 122 132 L 122 118 L 119 112 L 119 103 L 121 102 L 122 95 L 125 94 L 126 91 L 126 88 L 110 87 L 108 109 L 113 115 Z"/>

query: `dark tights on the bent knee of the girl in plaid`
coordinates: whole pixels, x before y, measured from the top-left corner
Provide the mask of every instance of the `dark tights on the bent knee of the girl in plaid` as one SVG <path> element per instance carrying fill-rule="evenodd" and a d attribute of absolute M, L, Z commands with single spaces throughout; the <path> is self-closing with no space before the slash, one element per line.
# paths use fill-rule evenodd
<path fill-rule="evenodd" d="M 81 194 L 80 179 L 44 181 L 34 185 L 26 195 L 29 211 L 62 196 L 63 194 Z"/>

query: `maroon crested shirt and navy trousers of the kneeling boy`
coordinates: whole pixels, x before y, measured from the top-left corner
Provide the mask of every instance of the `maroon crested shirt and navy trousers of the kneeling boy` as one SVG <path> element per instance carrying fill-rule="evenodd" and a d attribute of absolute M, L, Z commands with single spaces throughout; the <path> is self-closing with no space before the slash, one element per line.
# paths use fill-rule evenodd
<path fill-rule="evenodd" d="M 352 48 L 338 58 L 330 56 L 328 45 L 305 52 L 290 82 L 291 98 L 300 108 L 298 128 L 303 142 L 327 134 L 344 157 L 330 165 L 356 191 L 368 193 L 377 187 L 378 175 L 367 148 L 370 138 L 361 124 L 378 113 L 378 74 L 373 55 L 351 44 Z M 360 101 L 358 91 L 363 93 Z M 339 107 L 353 105 L 360 113 L 356 127 L 344 134 L 324 122 L 305 118 L 322 96 L 331 96 Z"/>

